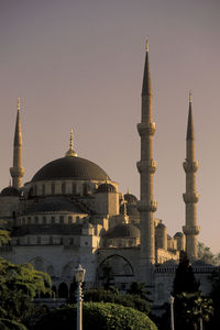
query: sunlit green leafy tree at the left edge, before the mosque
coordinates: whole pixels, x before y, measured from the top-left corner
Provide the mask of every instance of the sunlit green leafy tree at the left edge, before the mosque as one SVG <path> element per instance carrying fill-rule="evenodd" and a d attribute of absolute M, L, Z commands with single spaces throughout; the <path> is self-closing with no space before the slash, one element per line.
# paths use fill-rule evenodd
<path fill-rule="evenodd" d="M 34 306 L 37 293 L 51 294 L 51 277 L 31 264 L 14 265 L 0 257 L 0 318 L 21 321 Z"/>

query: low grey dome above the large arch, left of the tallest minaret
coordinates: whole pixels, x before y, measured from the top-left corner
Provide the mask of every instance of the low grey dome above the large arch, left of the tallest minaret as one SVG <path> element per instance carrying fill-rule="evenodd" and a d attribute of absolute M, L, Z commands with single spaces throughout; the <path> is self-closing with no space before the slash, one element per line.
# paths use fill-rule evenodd
<path fill-rule="evenodd" d="M 140 229 L 131 223 L 118 224 L 106 233 L 108 239 L 135 239 L 140 238 Z"/>

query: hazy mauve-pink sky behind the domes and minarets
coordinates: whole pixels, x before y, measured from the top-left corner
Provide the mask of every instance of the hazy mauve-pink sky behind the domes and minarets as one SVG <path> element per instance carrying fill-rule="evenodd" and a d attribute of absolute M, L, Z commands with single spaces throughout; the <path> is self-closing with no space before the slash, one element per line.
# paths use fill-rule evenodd
<path fill-rule="evenodd" d="M 150 37 L 156 217 L 185 222 L 188 91 L 193 91 L 199 240 L 220 250 L 220 1 L 0 0 L 0 187 L 9 184 L 21 97 L 24 182 L 79 156 L 139 197 L 141 86 Z"/>

